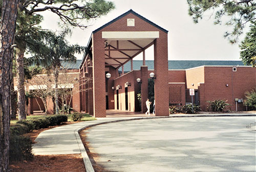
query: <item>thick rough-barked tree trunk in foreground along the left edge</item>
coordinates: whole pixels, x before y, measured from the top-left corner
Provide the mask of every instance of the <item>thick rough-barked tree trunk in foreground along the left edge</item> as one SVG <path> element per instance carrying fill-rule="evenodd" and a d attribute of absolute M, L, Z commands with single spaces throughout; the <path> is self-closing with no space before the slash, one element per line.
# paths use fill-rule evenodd
<path fill-rule="evenodd" d="M 0 172 L 9 165 L 12 49 L 18 0 L 3 0 L 0 25 Z"/>

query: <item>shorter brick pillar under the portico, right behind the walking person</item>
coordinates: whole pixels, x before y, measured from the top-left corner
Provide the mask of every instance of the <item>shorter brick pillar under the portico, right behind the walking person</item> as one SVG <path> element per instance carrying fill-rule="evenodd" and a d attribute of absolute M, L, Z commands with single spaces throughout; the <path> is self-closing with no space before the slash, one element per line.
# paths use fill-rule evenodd
<path fill-rule="evenodd" d="M 147 81 L 147 66 L 140 67 L 140 79 L 141 83 L 141 112 L 145 113 L 146 108 L 146 99 L 148 98 L 148 81 Z"/>

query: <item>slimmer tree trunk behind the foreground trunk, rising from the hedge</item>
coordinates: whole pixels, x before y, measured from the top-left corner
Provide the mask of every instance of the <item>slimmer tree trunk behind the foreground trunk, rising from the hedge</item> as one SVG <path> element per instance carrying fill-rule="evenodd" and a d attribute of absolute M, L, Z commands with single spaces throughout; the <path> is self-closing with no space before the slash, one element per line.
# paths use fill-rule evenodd
<path fill-rule="evenodd" d="M 26 100 L 25 100 L 25 85 L 24 85 L 24 49 L 18 50 L 16 65 L 17 65 L 17 96 L 18 96 L 18 120 L 26 120 Z"/>

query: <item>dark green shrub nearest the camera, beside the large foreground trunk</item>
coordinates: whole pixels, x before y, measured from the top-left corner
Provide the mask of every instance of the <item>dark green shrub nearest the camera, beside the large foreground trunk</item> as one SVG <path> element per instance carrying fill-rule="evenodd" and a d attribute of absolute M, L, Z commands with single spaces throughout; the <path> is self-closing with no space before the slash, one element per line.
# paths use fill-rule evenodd
<path fill-rule="evenodd" d="M 9 160 L 30 160 L 33 158 L 32 141 L 29 137 L 10 135 Z"/>

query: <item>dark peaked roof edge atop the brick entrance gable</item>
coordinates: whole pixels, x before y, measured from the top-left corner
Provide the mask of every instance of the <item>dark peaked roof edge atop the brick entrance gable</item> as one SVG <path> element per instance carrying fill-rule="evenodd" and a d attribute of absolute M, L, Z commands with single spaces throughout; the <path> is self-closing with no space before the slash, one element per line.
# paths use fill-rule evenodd
<path fill-rule="evenodd" d="M 141 20 L 143 20 L 143 21 L 145 21 L 145 22 L 147 22 L 147 23 L 149 23 L 149 24 L 155 26 L 156 28 L 158 28 L 158 29 L 160 29 L 160 30 L 162 30 L 162 31 L 164 31 L 164 32 L 166 32 L 166 33 L 168 33 L 168 30 L 166 30 L 166 29 L 164 29 L 164 28 L 158 26 L 157 24 L 155 24 L 155 23 L 153 23 L 153 22 L 147 20 L 145 17 L 143 17 L 142 15 L 140 15 L 140 14 L 138 14 L 137 12 L 133 11 L 132 9 L 130 9 L 129 11 L 127 11 L 127 12 L 123 13 L 122 15 L 116 17 L 114 20 L 110 21 L 109 23 L 106 23 L 106 24 L 104 24 L 103 26 L 99 27 L 98 29 L 94 30 L 93 33 L 96 33 L 97 31 L 99 31 L 99 30 L 105 28 L 106 26 L 109 26 L 110 24 L 116 22 L 116 21 L 119 20 L 120 18 L 122 18 L 122 17 L 124 17 L 125 15 L 130 14 L 130 13 L 136 15 L 137 17 L 141 18 Z"/>

